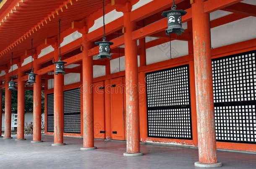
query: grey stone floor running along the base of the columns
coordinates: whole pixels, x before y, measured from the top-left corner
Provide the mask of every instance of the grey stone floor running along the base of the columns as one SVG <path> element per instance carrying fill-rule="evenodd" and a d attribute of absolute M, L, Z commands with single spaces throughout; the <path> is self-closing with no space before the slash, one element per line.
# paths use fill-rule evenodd
<path fill-rule="evenodd" d="M 65 137 L 65 146 L 51 146 L 53 136 L 30 143 L 0 138 L 0 169 L 194 169 L 198 150 L 188 147 L 141 144 L 144 156 L 123 156 L 125 141 L 95 140 L 95 150 L 80 150 L 83 140 Z M 256 154 L 217 152 L 221 169 L 256 169 Z"/>

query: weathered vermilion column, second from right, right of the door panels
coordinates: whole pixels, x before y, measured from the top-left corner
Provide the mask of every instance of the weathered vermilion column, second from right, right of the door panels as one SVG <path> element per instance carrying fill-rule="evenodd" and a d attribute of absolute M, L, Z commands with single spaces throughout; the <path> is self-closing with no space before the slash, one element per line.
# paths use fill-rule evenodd
<path fill-rule="evenodd" d="M 138 58 L 137 43 L 132 40 L 136 23 L 131 22 L 130 12 L 124 13 L 125 84 L 126 84 L 126 153 L 124 156 L 140 156 Z"/>

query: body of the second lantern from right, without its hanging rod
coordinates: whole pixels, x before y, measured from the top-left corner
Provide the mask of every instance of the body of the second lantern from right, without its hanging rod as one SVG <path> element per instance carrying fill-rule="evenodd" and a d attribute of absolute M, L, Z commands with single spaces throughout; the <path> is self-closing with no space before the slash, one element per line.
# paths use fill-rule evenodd
<path fill-rule="evenodd" d="M 99 55 L 98 58 L 99 59 L 103 59 L 103 58 L 109 58 L 111 59 L 111 55 L 110 55 L 110 45 L 113 45 L 114 43 L 109 42 L 109 41 L 100 41 L 100 42 L 96 42 L 95 45 L 99 45 Z"/>

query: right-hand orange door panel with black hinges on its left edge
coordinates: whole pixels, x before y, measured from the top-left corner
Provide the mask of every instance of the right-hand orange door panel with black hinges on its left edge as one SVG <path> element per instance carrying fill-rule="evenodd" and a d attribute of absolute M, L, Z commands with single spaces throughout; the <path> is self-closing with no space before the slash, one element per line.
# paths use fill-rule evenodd
<path fill-rule="evenodd" d="M 111 79 L 111 129 L 112 139 L 125 140 L 123 78 Z"/>

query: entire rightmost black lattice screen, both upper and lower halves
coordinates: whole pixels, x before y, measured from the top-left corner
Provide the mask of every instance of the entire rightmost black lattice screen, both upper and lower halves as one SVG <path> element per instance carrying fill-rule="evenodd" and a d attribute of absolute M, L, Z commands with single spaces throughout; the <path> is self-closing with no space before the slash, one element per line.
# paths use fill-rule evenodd
<path fill-rule="evenodd" d="M 212 60 L 217 141 L 256 144 L 255 53 Z"/>

